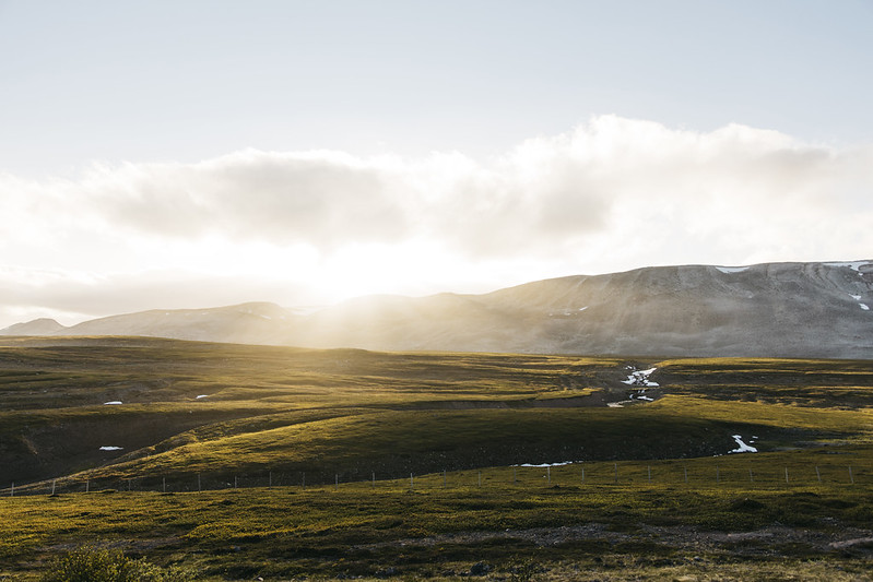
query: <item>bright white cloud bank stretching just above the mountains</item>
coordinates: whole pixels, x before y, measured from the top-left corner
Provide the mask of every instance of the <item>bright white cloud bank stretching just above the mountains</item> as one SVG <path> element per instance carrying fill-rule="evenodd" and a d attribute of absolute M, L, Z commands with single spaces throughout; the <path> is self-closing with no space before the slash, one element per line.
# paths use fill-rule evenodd
<path fill-rule="evenodd" d="M 344 274 L 357 282 L 349 294 L 370 290 L 370 276 L 374 290 L 394 290 L 379 280 L 426 293 L 647 264 L 868 257 L 871 167 L 873 147 L 602 116 L 484 161 L 246 150 L 95 164 L 75 179 L 0 175 L 0 305 L 8 318 L 176 307 L 157 305 L 174 296 L 287 305 L 343 297 Z M 155 288 L 174 281 L 188 290 Z M 259 286 L 272 296 L 243 297 Z"/>

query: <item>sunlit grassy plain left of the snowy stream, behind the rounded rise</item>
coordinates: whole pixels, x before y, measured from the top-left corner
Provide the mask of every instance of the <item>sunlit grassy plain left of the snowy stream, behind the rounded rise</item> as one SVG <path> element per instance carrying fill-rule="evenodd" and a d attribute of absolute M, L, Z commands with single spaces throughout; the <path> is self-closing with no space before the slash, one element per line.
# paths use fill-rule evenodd
<path fill-rule="evenodd" d="M 98 466 L 131 451 L 143 456 L 155 446 L 282 426 L 293 431 L 302 411 L 330 418 L 362 408 L 530 406 L 583 397 L 601 370 L 614 375 L 617 365 L 164 340 L 7 343 L 0 347 L 0 455 L 7 460 L 0 482 L 20 483 Z M 110 401 L 125 404 L 103 404 Z M 122 447 L 123 453 L 99 452 L 103 446 Z"/>

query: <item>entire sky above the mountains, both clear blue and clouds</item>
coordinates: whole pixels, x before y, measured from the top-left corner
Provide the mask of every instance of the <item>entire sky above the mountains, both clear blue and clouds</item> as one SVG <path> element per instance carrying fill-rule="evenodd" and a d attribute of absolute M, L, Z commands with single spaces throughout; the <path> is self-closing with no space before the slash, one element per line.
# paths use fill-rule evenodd
<path fill-rule="evenodd" d="M 0 0 L 0 328 L 873 258 L 873 1 Z"/>

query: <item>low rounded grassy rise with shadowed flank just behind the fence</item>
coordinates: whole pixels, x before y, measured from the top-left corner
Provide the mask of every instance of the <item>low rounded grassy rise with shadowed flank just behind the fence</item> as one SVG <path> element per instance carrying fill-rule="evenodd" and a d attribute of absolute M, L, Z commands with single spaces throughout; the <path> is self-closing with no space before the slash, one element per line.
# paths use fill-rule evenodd
<path fill-rule="evenodd" d="M 328 483 L 334 474 L 357 480 L 374 471 L 385 478 L 531 462 L 711 456 L 735 448 L 736 433 L 757 437 L 757 447 L 774 450 L 816 440 L 858 440 L 871 427 L 866 412 L 774 411 L 757 403 L 671 395 L 628 408 L 318 413 L 325 418 L 273 415 L 268 418 L 281 426 L 229 436 L 191 431 L 164 452 L 87 475 L 106 483 L 161 476 L 190 485 L 200 473 L 273 471 L 307 473 L 310 483 Z"/>

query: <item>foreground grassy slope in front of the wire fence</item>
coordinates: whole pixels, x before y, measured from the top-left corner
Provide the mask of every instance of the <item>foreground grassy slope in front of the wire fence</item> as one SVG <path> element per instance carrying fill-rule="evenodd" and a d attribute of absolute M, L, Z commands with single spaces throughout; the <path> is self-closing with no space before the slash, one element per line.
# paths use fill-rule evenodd
<path fill-rule="evenodd" d="M 695 573 L 718 571 L 719 580 L 731 580 L 725 571 L 743 562 L 750 566 L 740 580 L 809 580 L 787 575 L 809 571 L 809 560 L 826 565 L 821 580 L 869 568 L 868 546 L 839 549 L 829 542 L 865 535 L 873 519 L 870 485 L 648 483 L 645 468 L 621 465 L 618 485 L 609 483 L 610 463 L 591 464 L 586 485 L 569 467 L 553 470 L 552 486 L 543 470 L 519 470 L 512 483 L 503 468 L 484 471 L 482 487 L 472 474 L 449 475 L 446 489 L 440 476 L 422 477 L 415 492 L 396 482 L 4 498 L 0 563 L 19 565 L 8 571 L 25 575 L 46 548 L 79 544 L 87 531 L 89 539 L 120 544 L 129 554 L 234 580 L 376 575 L 388 568 L 438 575 L 479 561 L 503 575 L 517 563 L 555 571 L 574 565 L 611 580 L 624 580 L 626 568 L 663 579 L 665 567 L 688 570 L 689 563 Z M 734 541 L 711 533 L 760 528 L 770 530 Z"/>

